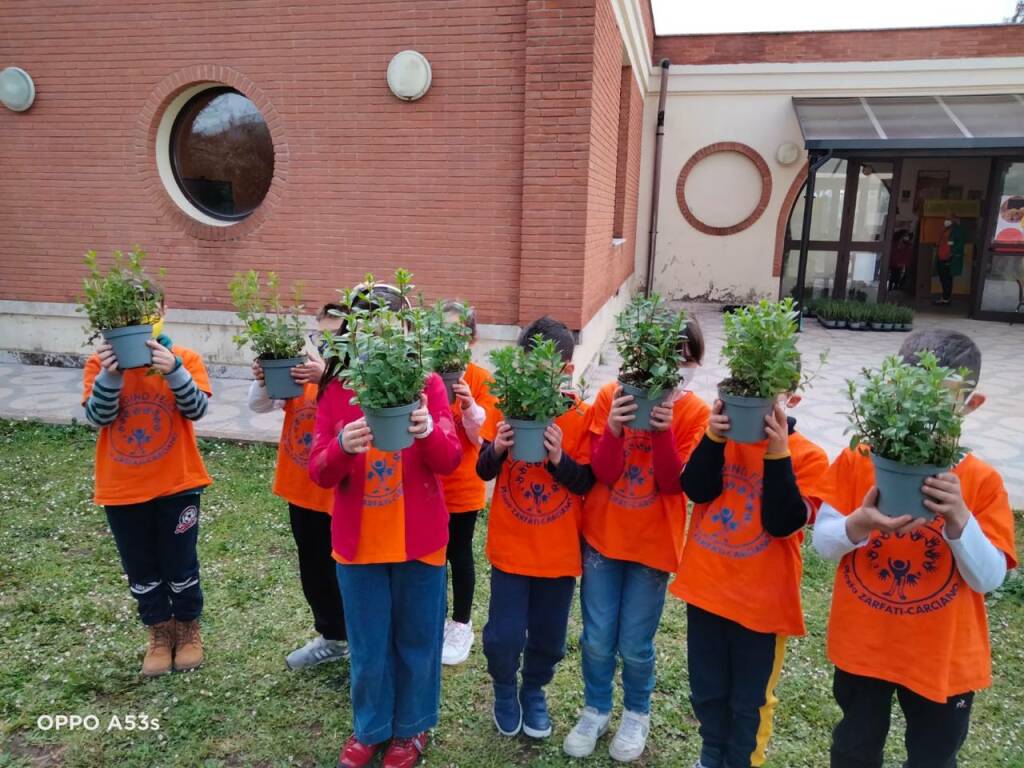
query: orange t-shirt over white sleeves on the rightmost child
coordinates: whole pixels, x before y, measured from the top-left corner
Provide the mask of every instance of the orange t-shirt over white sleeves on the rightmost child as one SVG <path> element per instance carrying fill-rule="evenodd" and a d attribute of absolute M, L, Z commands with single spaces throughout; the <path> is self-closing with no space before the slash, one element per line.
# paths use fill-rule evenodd
<path fill-rule="evenodd" d="M 992 467 L 968 456 L 952 470 L 982 531 L 1016 567 L 1010 500 Z M 874 484 L 870 458 L 845 450 L 818 484 L 849 515 Z M 991 685 L 985 596 L 961 577 L 943 520 L 911 534 L 874 531 L 836 570 L 828 657 L 845 672 L 903 685 L 933 701 Z"/>

